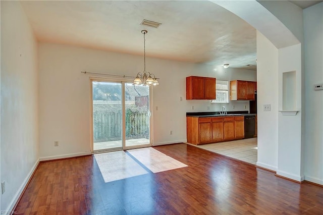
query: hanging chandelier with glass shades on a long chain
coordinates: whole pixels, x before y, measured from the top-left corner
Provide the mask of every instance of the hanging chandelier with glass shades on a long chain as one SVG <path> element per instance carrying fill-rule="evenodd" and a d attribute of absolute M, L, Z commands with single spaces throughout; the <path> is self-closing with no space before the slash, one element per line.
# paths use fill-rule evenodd
<path fill-rule="evenodd" d="M 144 62 L 144 69 L 142 73 L 138 73 L 135 80 L 133 80 L 134 85 L 143 85 L 143 86 L 149 86 L 149 85 L 158 85 L 157 78 L 152 73 L 146 72 L 146 38 L 145 34 L 148 33 L 147 30 L 142 30 L 141 33 L 143 33 L 143 62 Z M 151 77 L 153 76 L 153 78 Z"/>

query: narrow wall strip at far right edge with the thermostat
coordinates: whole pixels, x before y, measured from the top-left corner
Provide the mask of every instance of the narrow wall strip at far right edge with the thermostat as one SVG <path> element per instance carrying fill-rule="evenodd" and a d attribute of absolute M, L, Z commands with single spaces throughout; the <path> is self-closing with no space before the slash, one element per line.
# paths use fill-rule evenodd
<path fill-rule="evenodd" d="M 305 32 L 305 180 L 323 185 L 323 3 L 304 10 Z"/>

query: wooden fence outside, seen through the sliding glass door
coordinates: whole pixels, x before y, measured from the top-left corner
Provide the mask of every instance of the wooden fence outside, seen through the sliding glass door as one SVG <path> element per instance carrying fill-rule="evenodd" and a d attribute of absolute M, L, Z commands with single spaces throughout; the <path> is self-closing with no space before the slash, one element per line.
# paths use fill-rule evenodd
<path fill-rule="evenodd" d="M 121 140 L 122 113 L 93 112 L 94 142 Z M 147 112 L 126 111 L 126 139 L 149 139 L 149 117 Z"/>

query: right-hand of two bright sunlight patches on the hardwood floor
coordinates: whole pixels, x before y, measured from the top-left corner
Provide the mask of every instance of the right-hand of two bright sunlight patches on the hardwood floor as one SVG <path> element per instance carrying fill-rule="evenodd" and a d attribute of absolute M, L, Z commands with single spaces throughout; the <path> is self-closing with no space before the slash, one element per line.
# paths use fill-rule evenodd
<path fill-rule="evenodd" d="M 153 173 L 187 167 L 187 165 L 152 147 L 137 148 L 127 151 Z"/>

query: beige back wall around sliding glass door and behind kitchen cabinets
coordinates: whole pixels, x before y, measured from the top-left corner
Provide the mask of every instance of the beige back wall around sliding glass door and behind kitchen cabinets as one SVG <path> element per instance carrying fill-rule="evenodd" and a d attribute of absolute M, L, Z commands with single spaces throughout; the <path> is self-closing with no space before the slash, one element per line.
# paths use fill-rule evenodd
<path fill-rule="evenodd" d="M 125 63 L 126 62 L 126 63 Z M 41 159 L 90 151 L 89 75 L 81 71 L 134 76 L 141 72 L 142 56 L 101 50 L 39 44 L 39 141 Z M 256 72 L 218 69 L 211 65 L 146 59 L 146 69 L 159 77 L 153 87 L 153 144 L 186 141 L 186 112 L 220 111 L 210 100 L 186 100 L 186 76 L 256 80 Z M 236 76 L 235 76 L 236 75 Z M 180 101 L 180 97 L 183 100 Z M 235 110 L 249 102 L 237 102 Z M 207 110 L 207 105 L 210 110 Z M 158 106 L 158 111 L 156 111 Z M 230 106 L 230 105 L 228 105 Z M 229 109 L 229 108 L 228 108 Z M 241 110 L 241 109 L 240 109 Z M 248 109 L 247 109 L 248 111 Z M 170 130 L 173 135 L 170 135 Z M 60 146 L 54 147 L 53 142 Z"/>

